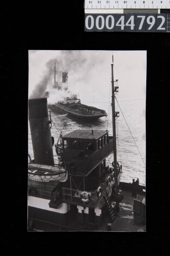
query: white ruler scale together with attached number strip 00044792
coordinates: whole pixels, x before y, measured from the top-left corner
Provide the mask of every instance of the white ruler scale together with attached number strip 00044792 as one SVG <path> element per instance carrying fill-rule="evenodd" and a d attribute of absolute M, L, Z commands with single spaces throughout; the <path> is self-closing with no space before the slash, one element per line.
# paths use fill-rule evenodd
<path fill-rule="evenodd" d="M 85 31 L 170 32 L 169 0 L 85 0 L 84 9 Z"/>

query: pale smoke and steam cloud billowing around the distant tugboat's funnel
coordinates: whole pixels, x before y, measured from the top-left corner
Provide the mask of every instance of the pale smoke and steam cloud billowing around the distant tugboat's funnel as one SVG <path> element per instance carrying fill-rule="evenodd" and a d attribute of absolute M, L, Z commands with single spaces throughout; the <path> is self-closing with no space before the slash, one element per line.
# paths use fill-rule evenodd
<path fill-rule="evenodd" d="M 47 71 L 44 74 L 40 82 L 35 86 L 31 98 L 40 98 L 46 96 L 48 91 L 48 103 L 53 104 L 57 101 L 64 100 L 66 97 L 71 97 L 73 93 L 69 90 L 71 85 L 65 84 L 61 85 L 61 88 L 53 88 L 54 85 L 54 64 L 56 63 L 56 81 L 62 81 L 62 72 L 68 72 L 69 75 L 79 74 L 79 79 L 88 82 L 89 77 L 87 76 L 87 71 L 93 65 L 92 58 L 86 58 L 82 54 L 82 51 L 62 51 L 60 56 L 54 59 L 50 59 L 46 63 Z M 82 72 L 84 70 L 84 72 Z M 64 89 L 67 87 L 68 89 Z"/>

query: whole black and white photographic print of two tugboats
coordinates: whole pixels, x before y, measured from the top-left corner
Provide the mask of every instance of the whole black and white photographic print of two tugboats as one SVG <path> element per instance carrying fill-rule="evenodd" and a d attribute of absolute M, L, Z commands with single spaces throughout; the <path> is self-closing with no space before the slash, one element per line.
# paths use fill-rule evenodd
<path fill-rule="evenodd" d="M 146 231 L 146 50 L 29 50 L 28 231 Z"/>

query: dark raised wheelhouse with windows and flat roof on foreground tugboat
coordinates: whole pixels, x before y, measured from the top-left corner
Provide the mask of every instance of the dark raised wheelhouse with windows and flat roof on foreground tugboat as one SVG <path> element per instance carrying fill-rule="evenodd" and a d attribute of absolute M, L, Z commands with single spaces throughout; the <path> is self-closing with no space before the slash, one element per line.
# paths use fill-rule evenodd
<path fill-rule="evenodd" d="M 88 175 L 113 152 L 108 131 L 75 130 L 62 137 L 63 158 L 70 175 Z"/>

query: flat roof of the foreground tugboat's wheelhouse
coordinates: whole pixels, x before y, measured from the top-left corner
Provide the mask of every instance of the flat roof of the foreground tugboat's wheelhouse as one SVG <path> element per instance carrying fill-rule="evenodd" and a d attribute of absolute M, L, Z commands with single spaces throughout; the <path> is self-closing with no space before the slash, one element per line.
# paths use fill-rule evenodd
<path fill-rule="evenodd" d="M 64 139 L 98 139 L 104 135 L 106 135 L 108 131 L 101 131 L 101 130 L 93 130 L 93 134 L 91 130 L 75 130 L 71 133 L 68 133 L 62 138 Z"/>

